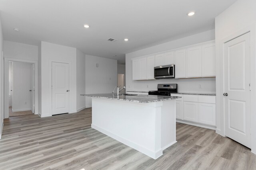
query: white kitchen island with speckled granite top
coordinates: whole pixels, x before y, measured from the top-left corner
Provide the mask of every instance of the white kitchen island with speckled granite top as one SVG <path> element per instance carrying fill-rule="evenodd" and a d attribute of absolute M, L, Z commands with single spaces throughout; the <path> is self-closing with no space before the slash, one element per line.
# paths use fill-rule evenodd
<path fill-rule="evenodd" d="M 92 128 L 151 158 L 176 143 L 173 96 L 82 94 L 92 97 Z"/>

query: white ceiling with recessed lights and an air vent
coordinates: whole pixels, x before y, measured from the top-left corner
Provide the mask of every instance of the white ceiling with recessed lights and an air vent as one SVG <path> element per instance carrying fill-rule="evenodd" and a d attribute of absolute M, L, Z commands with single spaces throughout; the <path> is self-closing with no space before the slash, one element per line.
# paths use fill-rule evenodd
<path fill-rule="evenodd" d="M 7 41 L 46 41 L 124 63 L 126 53 L 214 29 L 214 18 L 235 1 L 0 0 L 0 12 Z"/>

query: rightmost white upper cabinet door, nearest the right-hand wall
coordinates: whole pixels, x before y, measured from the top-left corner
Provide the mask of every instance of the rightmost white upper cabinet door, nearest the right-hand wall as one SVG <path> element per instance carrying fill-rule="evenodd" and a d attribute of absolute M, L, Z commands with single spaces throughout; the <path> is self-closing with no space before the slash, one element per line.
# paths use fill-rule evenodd
<path fill-rule="evenodd" d="M 215 76 L 215 43 L 202 46 L 202 76 Z"/>

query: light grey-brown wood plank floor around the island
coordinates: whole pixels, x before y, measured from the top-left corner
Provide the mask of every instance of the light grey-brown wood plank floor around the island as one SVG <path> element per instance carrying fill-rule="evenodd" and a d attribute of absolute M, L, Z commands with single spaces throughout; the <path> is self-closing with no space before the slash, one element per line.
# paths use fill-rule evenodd
<path fill-rule="evenodd" d="M 0 169 L 256 170 L 256 155 L 214 130 L 177 123 L 177 143 L 154 160 L 90 127 L 91 109 L 4 119 Z"/>

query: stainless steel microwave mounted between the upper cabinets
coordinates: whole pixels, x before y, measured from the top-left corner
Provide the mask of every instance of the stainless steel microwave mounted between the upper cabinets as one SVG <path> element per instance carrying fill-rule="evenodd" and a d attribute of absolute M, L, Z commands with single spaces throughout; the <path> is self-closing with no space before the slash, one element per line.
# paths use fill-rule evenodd
<path fill-rule="evenodd" d="M 174 64 L 154 67 L 154 78 L 175 78 Z"/>

